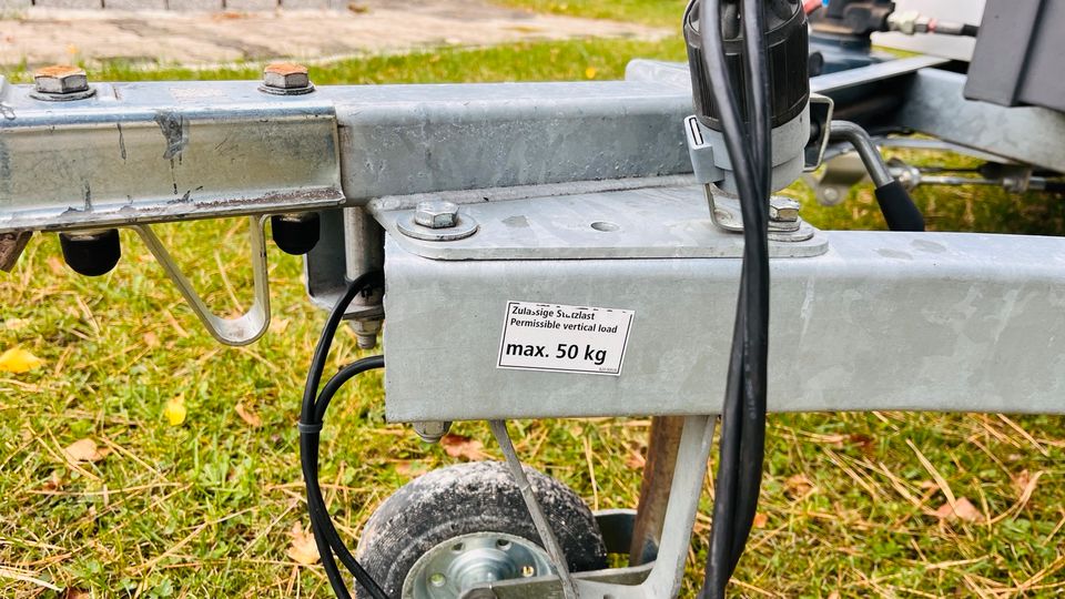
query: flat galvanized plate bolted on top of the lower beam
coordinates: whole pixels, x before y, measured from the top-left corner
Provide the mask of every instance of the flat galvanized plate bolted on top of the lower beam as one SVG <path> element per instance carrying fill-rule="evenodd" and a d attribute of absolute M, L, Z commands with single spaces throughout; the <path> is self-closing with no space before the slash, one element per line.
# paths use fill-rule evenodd
<path fill-rule="evenodd" d="M 409 219 L 409 197 L 386 197 L 371 211 L 406 251 L 435 260 L 576 260 L 738 257 L 743 236 L 713 225 L 702 187 L 677 185 L 673 177 L 650 186 L 494 201 L 479 191 L 452 194 L 460 214 L 479 224 L 457 241 L 412 238 L 397 227 Z M 665 183 L 667 186 L 656 186 Z M 825 237 L 772 243 L 774 256 L 813 256 L 828 250 Z M 516 298 L 517 300 L 517 298 Z"/>

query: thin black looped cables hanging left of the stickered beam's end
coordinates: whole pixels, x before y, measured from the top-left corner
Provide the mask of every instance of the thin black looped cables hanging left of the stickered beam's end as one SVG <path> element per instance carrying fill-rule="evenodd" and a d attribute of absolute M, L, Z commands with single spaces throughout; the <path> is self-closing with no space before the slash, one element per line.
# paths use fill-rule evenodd
<path fill-rule="evenodd" d="M 369 290 L 379 288 L 383 283 L 384 278 L 379 272 L 364 274 L 351 282 L 347 290 L 333 306 L 325 326 L 322 328 L 322 335 L 318 337 L 314 357 L 311 359 L 311 368 L 307 372 L 307 382 L 304 387 L 300 412 L 300 465 L 303 468 L 303 479 L 307 487 L 307 511 L 311 517 L 311 528 L 314 531 L 314 541 L 318 548 L 322 566 L 329 579 L 329 586 L 333 587 L 333 592 L 341 599 L 351 599 L 352 593 L 336 566 L 336 559 L 333 557 L 334 552 L 344 567 L 355 577 L 355 580 L 374 599 L 388 599 L 388 596 L 381 588 L 381 585 L 369 576 L 369 572 L 358 564 L 358 560 L 352 556 L 339 534 L 337 534 L 325 506 L 325 499 L 318 484 L 318 443 L 322 434 L 322 423 L 325 418 L 325 410 L 336 392 L 355 376 L 374 368 L 383 368 L 385 358 L 384 356 L 373 356 L 359 359 L 333 375 L 321 393 L 318 392 L 318 385 L 325 370 L 329 347 L 333 345 L 333 337 L 344 318 L 344 311 L 355 300 L 355 296 Z"/>

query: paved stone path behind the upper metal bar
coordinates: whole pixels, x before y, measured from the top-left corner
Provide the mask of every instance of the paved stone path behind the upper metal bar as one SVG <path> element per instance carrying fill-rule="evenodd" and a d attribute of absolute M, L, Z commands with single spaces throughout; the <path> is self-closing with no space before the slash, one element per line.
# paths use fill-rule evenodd
<path fill-rule="evenodd" d="M 0 0 L 3 65 L 91 65 L 115 59 L 183 65 L 313 61 L 444 44 L 658 39 L 670 33 L 632 23 L 535 14 L 483 0 L 36 0 L 82 8 L 11 7 L 22 1 Z M 278 1 L 285 8 L 276 8 Z M 215 6 L 220 2 L 225 10 Z M 343 6 L 313 8 L 337 2 Z M 85 8 L 93 3 L 97 8 Z M 100 3 L 106 10 L 100 10 Z M 164 4 L 170 10 L 163 10 Z M 179 6 L 200 10 L 176 10 Z"/>

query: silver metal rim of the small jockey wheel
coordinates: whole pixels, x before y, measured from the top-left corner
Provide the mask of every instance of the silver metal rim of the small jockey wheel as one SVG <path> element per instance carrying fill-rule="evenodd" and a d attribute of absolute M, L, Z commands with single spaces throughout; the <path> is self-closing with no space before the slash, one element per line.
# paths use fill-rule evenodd
<path fill-rule="evenodd" d="M 547 552 L 529 539 L 505 532 L 474 532 L 426 551 L 407 572 L 403 597 L 458 599 L 481 582 L 532 578 L 552 571 Z"/>

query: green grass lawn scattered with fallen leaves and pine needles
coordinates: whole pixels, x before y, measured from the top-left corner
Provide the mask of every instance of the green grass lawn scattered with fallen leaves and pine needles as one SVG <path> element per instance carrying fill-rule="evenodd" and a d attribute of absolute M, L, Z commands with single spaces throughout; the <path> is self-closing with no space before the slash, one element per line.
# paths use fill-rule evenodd
<path fill-rule="evenodd" d="M 668 24 L 680 2 L 600 0 L 509 4 Z M 607 10 L 609 8 L 609 11 Z M 572 41 L 315 68 L 327 83 L 617 79 L 635 57 L 679 60 L 679 40 Z M 261 65 L 142 72 L 98 80 L 244 78 Z M 13 74 L 23 79 L 24 73 Z M 956 159 L 952 159 L 956 160 Z M 869 189 L 842 206 L 805 199 L 828 229 L 881 227 Z M 1061 199 L 994 190 L 921 190 L 939 230 L 1062 234 Z M 250 304 L 242 221 L 160 227 L 216 311 Z M 43 363 L 0 373 L 0 596 L 329 597 L 318 567 L 290 555 L 306 525 L 296 460 L 303 376 L 324 314 L 305 300 L 297 258 L 271 248 L 274 324 L 227 348 L 204 333 L 140 241 L 122 233 L 120 266 L 74 275 L 54 235 L 39 235 L 0 273 L 0 352 Z M 236 290 L 236 291 L 234 291 Z M 361 355 L 339 336 L 331 366 Z M 1023 402 L 1023 398 L 1017 398 Z M 168 408 L 168 405 L 170 407 Z M 175 406 L 185 410 L 172 424 Z M 178 410 L 180 412 L 180 409 Z M 594 508 L 632 507 L 646 420 L 538 420 L 513 427 L 530 464 Z M 1065 429 L 1061 418 L 997 415 L 772 416 L 758 527 L 733 591 L 773 597 L 1049 597 L 1065 589 Z M 455 433 L 499 457 L 483 424 Z M 83 439 L 95 444 L 95 451 Z M 89 449 L 71 464 L 64 448 Z M 467 451 L 468 453 L 468 451 Z M 383 422 L 379 375 L 334 403 L 322 480 L 354 544 L 374 507 L 404 483 L 465 459 Z M 952 495 L 965 518 L 935 515 Z M 693 565 L 701 565 L 703 498 Z M 684 597 L 694 596 L 692 566 Z M 67 589 L 59 591 L 53 589 Z"/>

